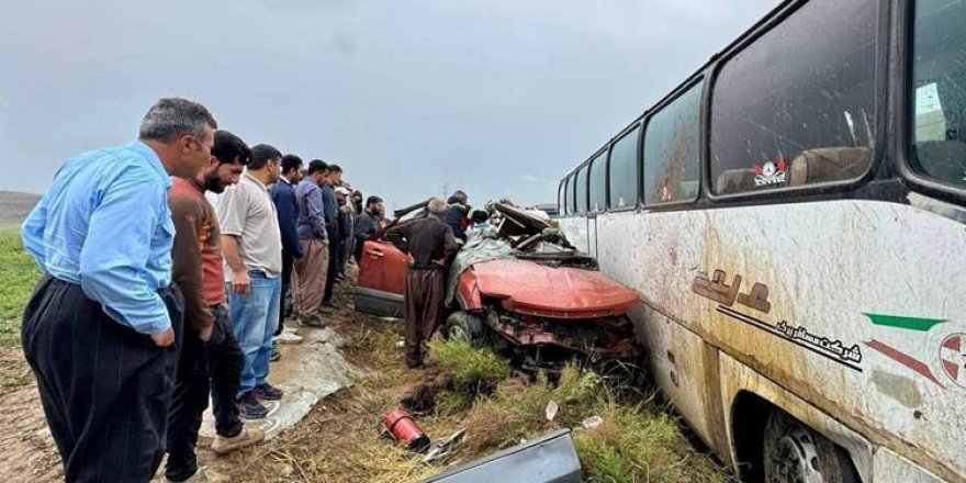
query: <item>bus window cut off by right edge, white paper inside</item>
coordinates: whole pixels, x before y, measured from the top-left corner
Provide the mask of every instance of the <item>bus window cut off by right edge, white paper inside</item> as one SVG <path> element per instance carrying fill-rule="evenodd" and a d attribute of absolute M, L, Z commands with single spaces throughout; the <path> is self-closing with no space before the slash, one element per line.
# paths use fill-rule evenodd
<path fill-rule="evenodd" d="M 912 169 L 966 188 L 966 0 L 916 2 Z"/>

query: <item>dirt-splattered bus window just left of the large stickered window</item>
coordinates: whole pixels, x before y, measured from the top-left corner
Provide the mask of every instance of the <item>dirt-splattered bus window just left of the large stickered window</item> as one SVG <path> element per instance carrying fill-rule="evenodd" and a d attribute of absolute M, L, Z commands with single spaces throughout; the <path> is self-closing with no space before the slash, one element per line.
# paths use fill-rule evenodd
<path fill-rule="evenodd" d="M 644 203 L 692 201 L 700 183 L 701 86 L 652 115 L 644 134 Z"/>

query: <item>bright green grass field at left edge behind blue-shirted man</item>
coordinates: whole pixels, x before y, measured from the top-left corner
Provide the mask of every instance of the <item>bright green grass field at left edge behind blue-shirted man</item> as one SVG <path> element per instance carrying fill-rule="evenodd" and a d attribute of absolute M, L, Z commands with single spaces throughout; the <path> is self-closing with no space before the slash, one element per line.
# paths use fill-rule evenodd
<path fill-rule="evenodd" d="M 37 265 L 24 251 L 20 233 L 0 231 L 0 347 L 20 345 L 23 306 L 38 278 Z"/>

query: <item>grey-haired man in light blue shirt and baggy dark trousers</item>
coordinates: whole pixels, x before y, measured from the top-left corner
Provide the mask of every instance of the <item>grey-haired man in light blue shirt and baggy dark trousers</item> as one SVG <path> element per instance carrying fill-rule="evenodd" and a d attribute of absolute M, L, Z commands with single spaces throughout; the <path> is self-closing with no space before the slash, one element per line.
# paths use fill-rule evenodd
<path fill-rule="evenodd" d="M 146 482 L 160 464 L 183 307 L 167 190 L 209 161 L 216 127 L 161 99 L 138 141 L 69 159 L 23 224 L 44 271 L 23 351 L 68 482 Z"/>

